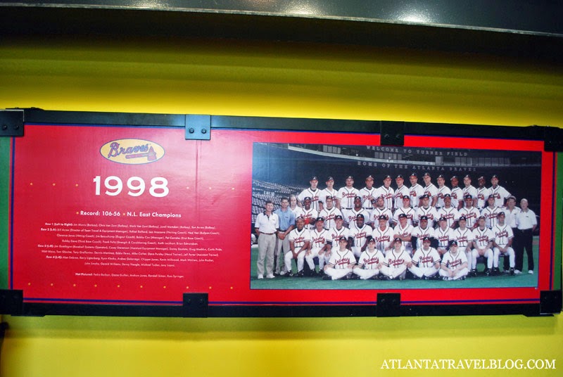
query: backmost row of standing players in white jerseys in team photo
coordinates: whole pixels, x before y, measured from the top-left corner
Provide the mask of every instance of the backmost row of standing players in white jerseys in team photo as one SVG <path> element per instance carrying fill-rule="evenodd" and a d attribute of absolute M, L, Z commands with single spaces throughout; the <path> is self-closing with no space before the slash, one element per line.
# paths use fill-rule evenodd
<path fill-rule="evenodd" d="M 403 183 L 405 181 L 402 174 L 398 174 L 395 178 L 396 188 L 391 187 L 391 176 L 386 175 L 383 179 L 383 185 L 378 188 L 374 187 L 374 177 L 369 175 L 365 179 L 365 187 L 358 190 L 354 187 L 354 178 L 352 176 L 346 177 L 346 186 L 339 190 L 334 188 L 334 178 L 328 177 L 326 181 L 326 188 L 318 188 L 319 180 L 317 177 L 311 177 L 309 184 L 310 187 L 305 188 L 296 197 L 296 205 L 303 207 L 305 205 L 305 198 L 310 198 L 311 207 L 317 211 L 321 211 L 326 206 L 326 198 L 331 196 L 334 200 L 334 207 L 339 210 L 352 210 L 355 207 L 355 198 L 360 197 L 362 201 L 361 207 L 365 210 L 373 210 L 375 200 L 381 197 L 384 199 L 384 207 L 391 211 L 398 210 L 403 206 L 403 198 L 409 196 L 413 209 L 419 207 L 419 198 L 422 195 L 429 197 L 429 206 L 435 207 L 439 210 L 445 205 L 445 196 L 450 195 L 452 205 L 455 209 L 461 210 L 463 207 L 464 198 L 467 195 L 472 196 L 473 206 L 478 210 L 482 210 L 487 205 L 487 198 L 493 196 L 495 198 L 495 206 L 502 207 L 505 205 L 505 200 L 510 197 L 510 192 L 506 188 L 498 184 L 498 175 L 493 174 L 491 177 L 491 187 L 485 186 L 485 177 L 479 177 L 479 186 L 472 186 L 472 179 L 469 174 L 463 177 L 464 187 L 458 186 L 459 179 L 453 176 L 450 179 L 451 188 L 445 186 L 445 177 L 440 174 L 436 178 L 438 186 L 434 185 L 431 181 L 431 174 L 426 172 L 422 176 L 424 186 L 418 184 L 418 175 L 413 172 L 410 174 L 409 181 L 411 186 L 407 187 Z M 293 209 L 293 204 L 291 205 Z"/>

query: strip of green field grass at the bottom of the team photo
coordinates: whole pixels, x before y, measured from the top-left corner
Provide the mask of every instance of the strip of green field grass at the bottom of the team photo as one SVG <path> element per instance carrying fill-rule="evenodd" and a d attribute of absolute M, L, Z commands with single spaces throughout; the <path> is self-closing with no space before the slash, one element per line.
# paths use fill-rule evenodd
<path fill-rule="evenodd" d="M 528 260 L 524 253 L 524 269 L 522 274 L 510 276 L 501 274 L 500 276 L 485 276 L 479 274 L 474 278 L 467 278 L 464 281 L 441 281 L 441 280 L 410 280 L 403 281 L 379 281 L 379 280 L 346 280 L 331 281 L 322 280 L 320 277 L 291 277 L 276 276 L 274 279 L 260 279 L 256 277 L 256 260 L 258 258 L 258 246 L 252 246 L 251 257 L 251 289 L 417 289 L 417 288 L 519 288 L 538 286 L 538 237 L 533 240 L 534 273 L 528 274 L 526 267 Z M 502 258 L 499 261 L 502 270 Z M 485 266 L 483 263 L 477 264 L 477 269 L 481 272 Z M 318 269 L 318 266 L 317 266 Z M 293 272 L 296 272 L 296 265 L 293 262 Z"/>

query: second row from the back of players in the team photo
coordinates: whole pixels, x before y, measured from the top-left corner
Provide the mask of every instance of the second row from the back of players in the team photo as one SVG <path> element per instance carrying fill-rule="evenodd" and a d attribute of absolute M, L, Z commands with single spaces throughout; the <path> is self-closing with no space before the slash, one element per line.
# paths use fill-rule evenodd
<path fill-rule="evenodd" d="M 384 198 L 379 196 L 374 199 L 375 207 L 372 210 L 367 210 L 362 207 L 362 198 L 356 196 L 354 199 L 354 207 L 350 210 L 339 210 L 334 206 L 334 198 L 327 196 L 325 198 L 326 205 L 324 208 L 318 212 L 311 206 L 311 198 L 303 198 L 304 207 L 296 207 L 293 211 L 295 217 L 303 217 L 305 219 L 305 225 L 308 229 L 315 228 L 315 221 L 317 217 L 322 217 L 324 219 L 324 228 L 330 229 L 334 227 L 336 216 L 341 216 L 344 219 L 345 226 L 350 229 L 356 227 L 356 220 L 359 215 L 362 215 L 364 223 L 375 228 L 379 224 L 379 219 L 381 216 L 386 216 L 388 219 L 389 226 L 396 226 L 399 223 L 399 217 L 406 217 L 407 224 L 412 226 L 419 225 L 420 219 L 426 217 L 428 224 L 431 228 L 438 227 L 438 219 L 444 218 L 448 228 L 456 229 L 459 224 L 460 217 L 465 217 L 467 221 L 467 227 L 469 229 L 475 229 L 477 227 L 477 219 L 481 216 L 485 217 L 485 224 L 488 229 L 493 229 L 498 222 L 498 214 L 500 212 L 505 212 L 505 215 L 512 213 L 505 207 L 497 207 L 495 205 L 495 197 L 489 196 L 487 199 L 488 205 L 484 207 L 481 211 L 477 210 L 473 206 L 473 197 L 471 195 L 466 195 L 464 198 L 464 207 L 457 210 L 451 205 L 450 194 L 445 194 L 444 196 L 444 206 L 439 210 L 436 207 L 431 207 L 429 205 L 429 196 L 423 194 L 419 197 L 420 206 L 417 210 L 414 210 L 410 206 L 410 196 L 403 196 L 403 207 L 391 212 L 387 207 L 384 206 Z M 512 216 L 512 215 L 510 215 Z M 508 220 L 510 224 L 511 219 Z"/>

